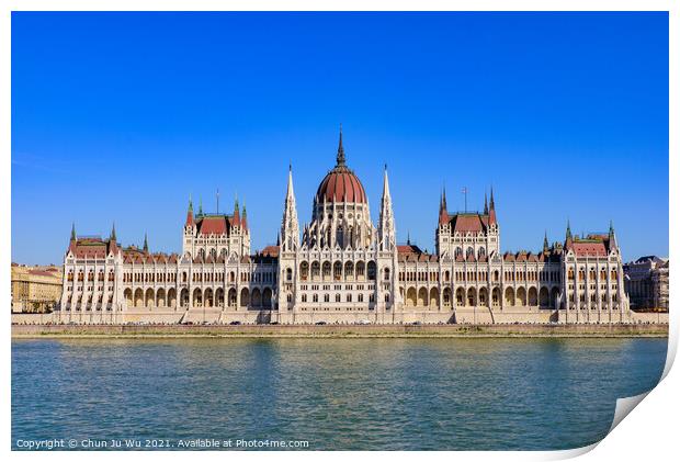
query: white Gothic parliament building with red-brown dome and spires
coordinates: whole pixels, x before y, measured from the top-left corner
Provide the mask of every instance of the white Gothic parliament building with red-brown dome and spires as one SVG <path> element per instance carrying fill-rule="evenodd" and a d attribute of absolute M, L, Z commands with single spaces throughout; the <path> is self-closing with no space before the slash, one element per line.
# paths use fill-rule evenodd
<path fill-rule="evenodd" d="M 433 217 L 434 218 L 434 217 Z M 434 222 L 434 219 L 433 219 Z M 434 224 L 434 223 L 433 223 Z M 189 203 L 181 253 L 150 252 L 71 230 L 66 323 L 494 324 L 628 323 L 621 251 L 609 233 L 544 238 L 536 252 L 502 252 L 494 192 L 481 213 L 451 213 L 440 198 L 435 251 L 397 245 L 387 169 L 377 224 L 348 167 L 342 132 L 302 229 L 288 171 L 276 246 L 250 249 L 246 207 Z"/>

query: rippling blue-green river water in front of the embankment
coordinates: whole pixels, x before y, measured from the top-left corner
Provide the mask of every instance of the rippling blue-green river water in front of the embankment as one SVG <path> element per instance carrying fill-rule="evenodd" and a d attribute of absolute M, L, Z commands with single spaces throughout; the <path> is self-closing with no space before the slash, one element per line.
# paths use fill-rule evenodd
<path fill-rule="evenodd" d="M 665 339 L 12 341 L 12 440 L 566 449 L 660 378 Z"/>

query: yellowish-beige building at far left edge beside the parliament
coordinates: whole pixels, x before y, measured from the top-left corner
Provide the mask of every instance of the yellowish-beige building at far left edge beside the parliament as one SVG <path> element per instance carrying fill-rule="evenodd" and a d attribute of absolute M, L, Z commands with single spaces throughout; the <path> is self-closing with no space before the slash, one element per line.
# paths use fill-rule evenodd
<path fill-rule="evenodd" d="M 61 297 L 61 268 L 12 263 L 12 312 L 49 313 Z"/>

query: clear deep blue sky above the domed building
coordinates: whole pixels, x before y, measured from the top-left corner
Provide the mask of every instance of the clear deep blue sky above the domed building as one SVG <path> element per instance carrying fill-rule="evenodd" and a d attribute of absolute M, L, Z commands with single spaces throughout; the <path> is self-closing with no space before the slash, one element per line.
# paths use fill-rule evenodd
<path fill-rule="evenodd" d="M 12 260 L 60 262 L 71 223 L 178 251 L 189 195 L 246 201 L 276 240 L 335 164 L 399 241 L 433 249 L 439 194 L 503 250 L 607 230 L 668 255 L 666 13 L 13 13 Z"/>

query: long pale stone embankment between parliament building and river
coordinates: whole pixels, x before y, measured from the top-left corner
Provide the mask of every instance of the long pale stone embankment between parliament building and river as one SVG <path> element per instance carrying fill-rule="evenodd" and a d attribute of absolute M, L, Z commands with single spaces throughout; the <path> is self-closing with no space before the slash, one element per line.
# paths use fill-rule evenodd
<path fill-rule="evenodd" d="M 12 325 L 12 338 L 668 337 L 667 324 L 540 325 Z"/>

